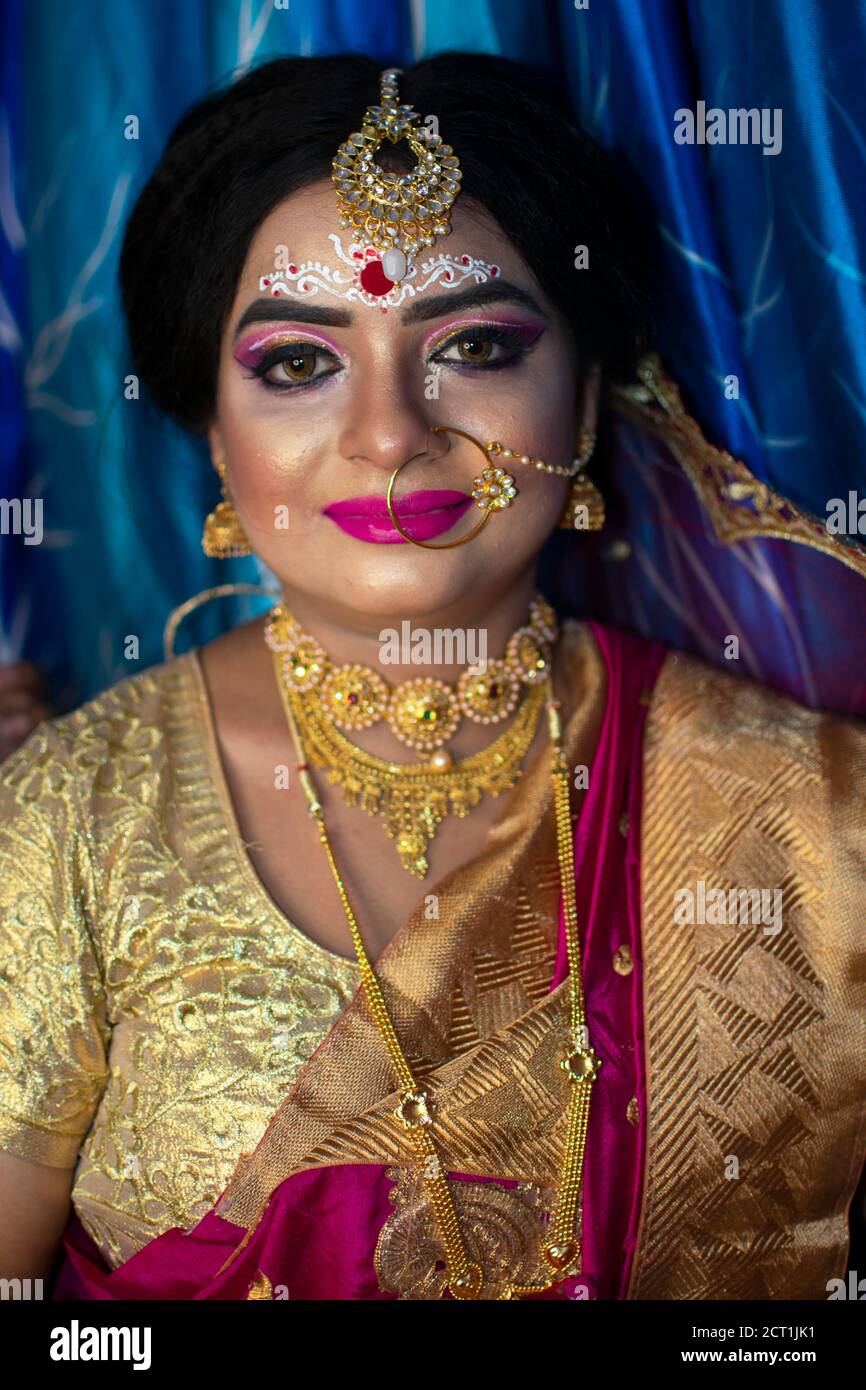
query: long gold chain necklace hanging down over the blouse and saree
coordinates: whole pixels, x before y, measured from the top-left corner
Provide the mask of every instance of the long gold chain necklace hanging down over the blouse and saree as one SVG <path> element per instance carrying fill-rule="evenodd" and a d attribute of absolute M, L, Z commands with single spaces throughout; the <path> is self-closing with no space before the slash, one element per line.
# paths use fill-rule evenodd
<path fill-rule="evenodd" d="M 281 678 L 279 653 L 274 652 L 272 656 L 277 685 L 281 692 L 286 721 L 292 733 L 300 783 L 307 799 L 307 810 L 317 823 L 318 837 L 324 845 L 331 873 L 334 874 L 334 881 L 336 884 L 336 891 L 339 894 L 343 912 L 346 913 L 367 1006 L 382 1037 L 382 1042 L 388 1051 L 391 1065 L 393 1066 L 398 1079 L 400 1104 L 395 1109 L 393 1115 L 395 1119 L 403 1126 L 424 1175 L 424 1183 L 430 1194 L 430 1201 L 448 1262 L 448 1289 L 450 1290 L 453 1298 L 473 1300 L 478 1297 L 484 1286 L 484 1272 L 480 1265 L 474 1264 L 468 1258 L 460 1225 L 457 1222 L 452 1191 L 445 1177 L 436 1144 L 432 1138 L 431 1131 L 435 1125 L 435 1102 L 430 1090 L 425 1086 L 418 1084 L 413 1076 L 406 1054 L 403 1052 L 400 1041 L 396 1036 L 382 988 L 367 955 L 357 919 L 352 909 L 352 903 L 349 902 L 346 887 L 334 858 L 334 849 L 331 848 L 331 841 L 325 828 L 322 806 L 316 795 L 316 788 L 310 778 L 303 742 L 293 716 L 293 702 L 289 699 L 289 694 Z M 509 1284 L 505 1293 L 499 1295 L 500 1298 L 521 1298 L 531 1294 L 539 1294 L 550 1289 L 553 1284 L 560 1283 L 563 1279 L 569 1279 L 580 1273 L 581 1240 L 575 1234 L 574 1223 L 584 1169 L 584 1150 L 589 1120 L 589 1098 L 592 1083 L 595 1081 L 601 1068 L 601 1058 L 588 1042 L 580 940 L 577 933 L 569 769 L 562 748 L 559 701 L 553 699 L 553 685 L 549 673 L 545 681 L 545 702 L 552 744 L 550 776 L 553 778 L 556 812 L 556 852 L 563 891 L 566 947 L 569 955 L 570 1048 L 563 1056 L 560 1068 L 569 1079 L 570 1095 L 556 1209 L 550 1222 L 550 1236 L 542 1247 L 544 1258 L 549 1265 L 549 1273 L 544 1273 L 535 1284 Z"/>

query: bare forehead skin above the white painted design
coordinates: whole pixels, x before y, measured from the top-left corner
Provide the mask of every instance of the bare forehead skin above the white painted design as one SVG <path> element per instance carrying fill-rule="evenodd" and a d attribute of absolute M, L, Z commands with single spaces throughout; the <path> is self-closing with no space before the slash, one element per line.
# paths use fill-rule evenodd
<path fill-rule="evenodd" d="M 478 204 L 463 196 L 455 203 L 450 236 L 438 236 L 432 246 L 416 253 L 420 264 L 430 256 L 468 254 L 496 264 L 503 278 L 534 285 L 534 277 L 518 252 L 512 246 L 496 221 Z M 259 225 L 243 265 L 238 286 L 239 297 L 259 293 L 259 281 L 274 270 L 282 247 L 293 263 L 321 261 L 336 267 L 339 256 L 331 236 L 336 234 L 348 249 L 353 242 L 352 228 L 339 225 L 336 190 L 331 179 L 324 179 L 292 193 Z M 441 289 L 441 286 L 439 286 Z M 421 291 L 420 293 L 427 293 Z"/>

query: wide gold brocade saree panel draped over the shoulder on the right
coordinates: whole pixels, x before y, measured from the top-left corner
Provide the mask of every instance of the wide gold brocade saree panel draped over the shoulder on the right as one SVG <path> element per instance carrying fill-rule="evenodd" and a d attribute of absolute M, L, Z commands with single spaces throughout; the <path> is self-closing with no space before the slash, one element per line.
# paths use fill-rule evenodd
<path fill-rule="evenodd" d="M 666 662 L 645 742 L 630 1298 L 826 1298 L 844 1270 L 866 1144 L 863 787 L 866 727 Z M 699 880 L 780 888 L 781 930 L 677 924 L 674 894 Z"/>

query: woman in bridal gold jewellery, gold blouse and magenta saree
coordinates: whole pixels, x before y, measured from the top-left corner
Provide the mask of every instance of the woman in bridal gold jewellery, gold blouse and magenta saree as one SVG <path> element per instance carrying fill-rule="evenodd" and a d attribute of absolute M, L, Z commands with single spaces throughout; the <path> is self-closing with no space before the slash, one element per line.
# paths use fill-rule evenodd
<path fill-rule="evenodd" d="M 64 1227 L 58 1298 L 844 1269 L 863 730 L 537 591 L 645 348 L 626 215 L 503 60 L 285 60 L 174 132 L 136 370 L 282 602 L 3 769 L 7 1277 Z"/>

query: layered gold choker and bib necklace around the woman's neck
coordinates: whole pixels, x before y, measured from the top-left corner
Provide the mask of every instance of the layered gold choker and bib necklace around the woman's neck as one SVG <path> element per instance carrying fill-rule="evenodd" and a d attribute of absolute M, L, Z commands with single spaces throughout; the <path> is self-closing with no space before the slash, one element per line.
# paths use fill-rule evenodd
<path fill-rule="evenodd" d="M 303 733 L 311 766 L 327 769 L 350 806 L 381 816 L 407 873 L 424 878 L 427 847 L 446 816 L 468 816 L 481 796 L 514 785 L 532 745 L 550 676 L 556 614 L 537 595 L 530 621 L 512 634 L 503 659 L 484 670 L 467 667 L 456 688 L 421 677 L 393 689 L 371 667 L 334 666 L 324 648 L 278 605 L 265 623 L 281 692 Z M 441 745 L 453 735 L 460 713 L 493 724 L 525 695 L 513 723 L 481 752 L 455 760 Z M 367 728 L 386 719 L 410 748 L 427 752 L 421 763 L 395 763 L 353 744 L 341 728 Z"/>

